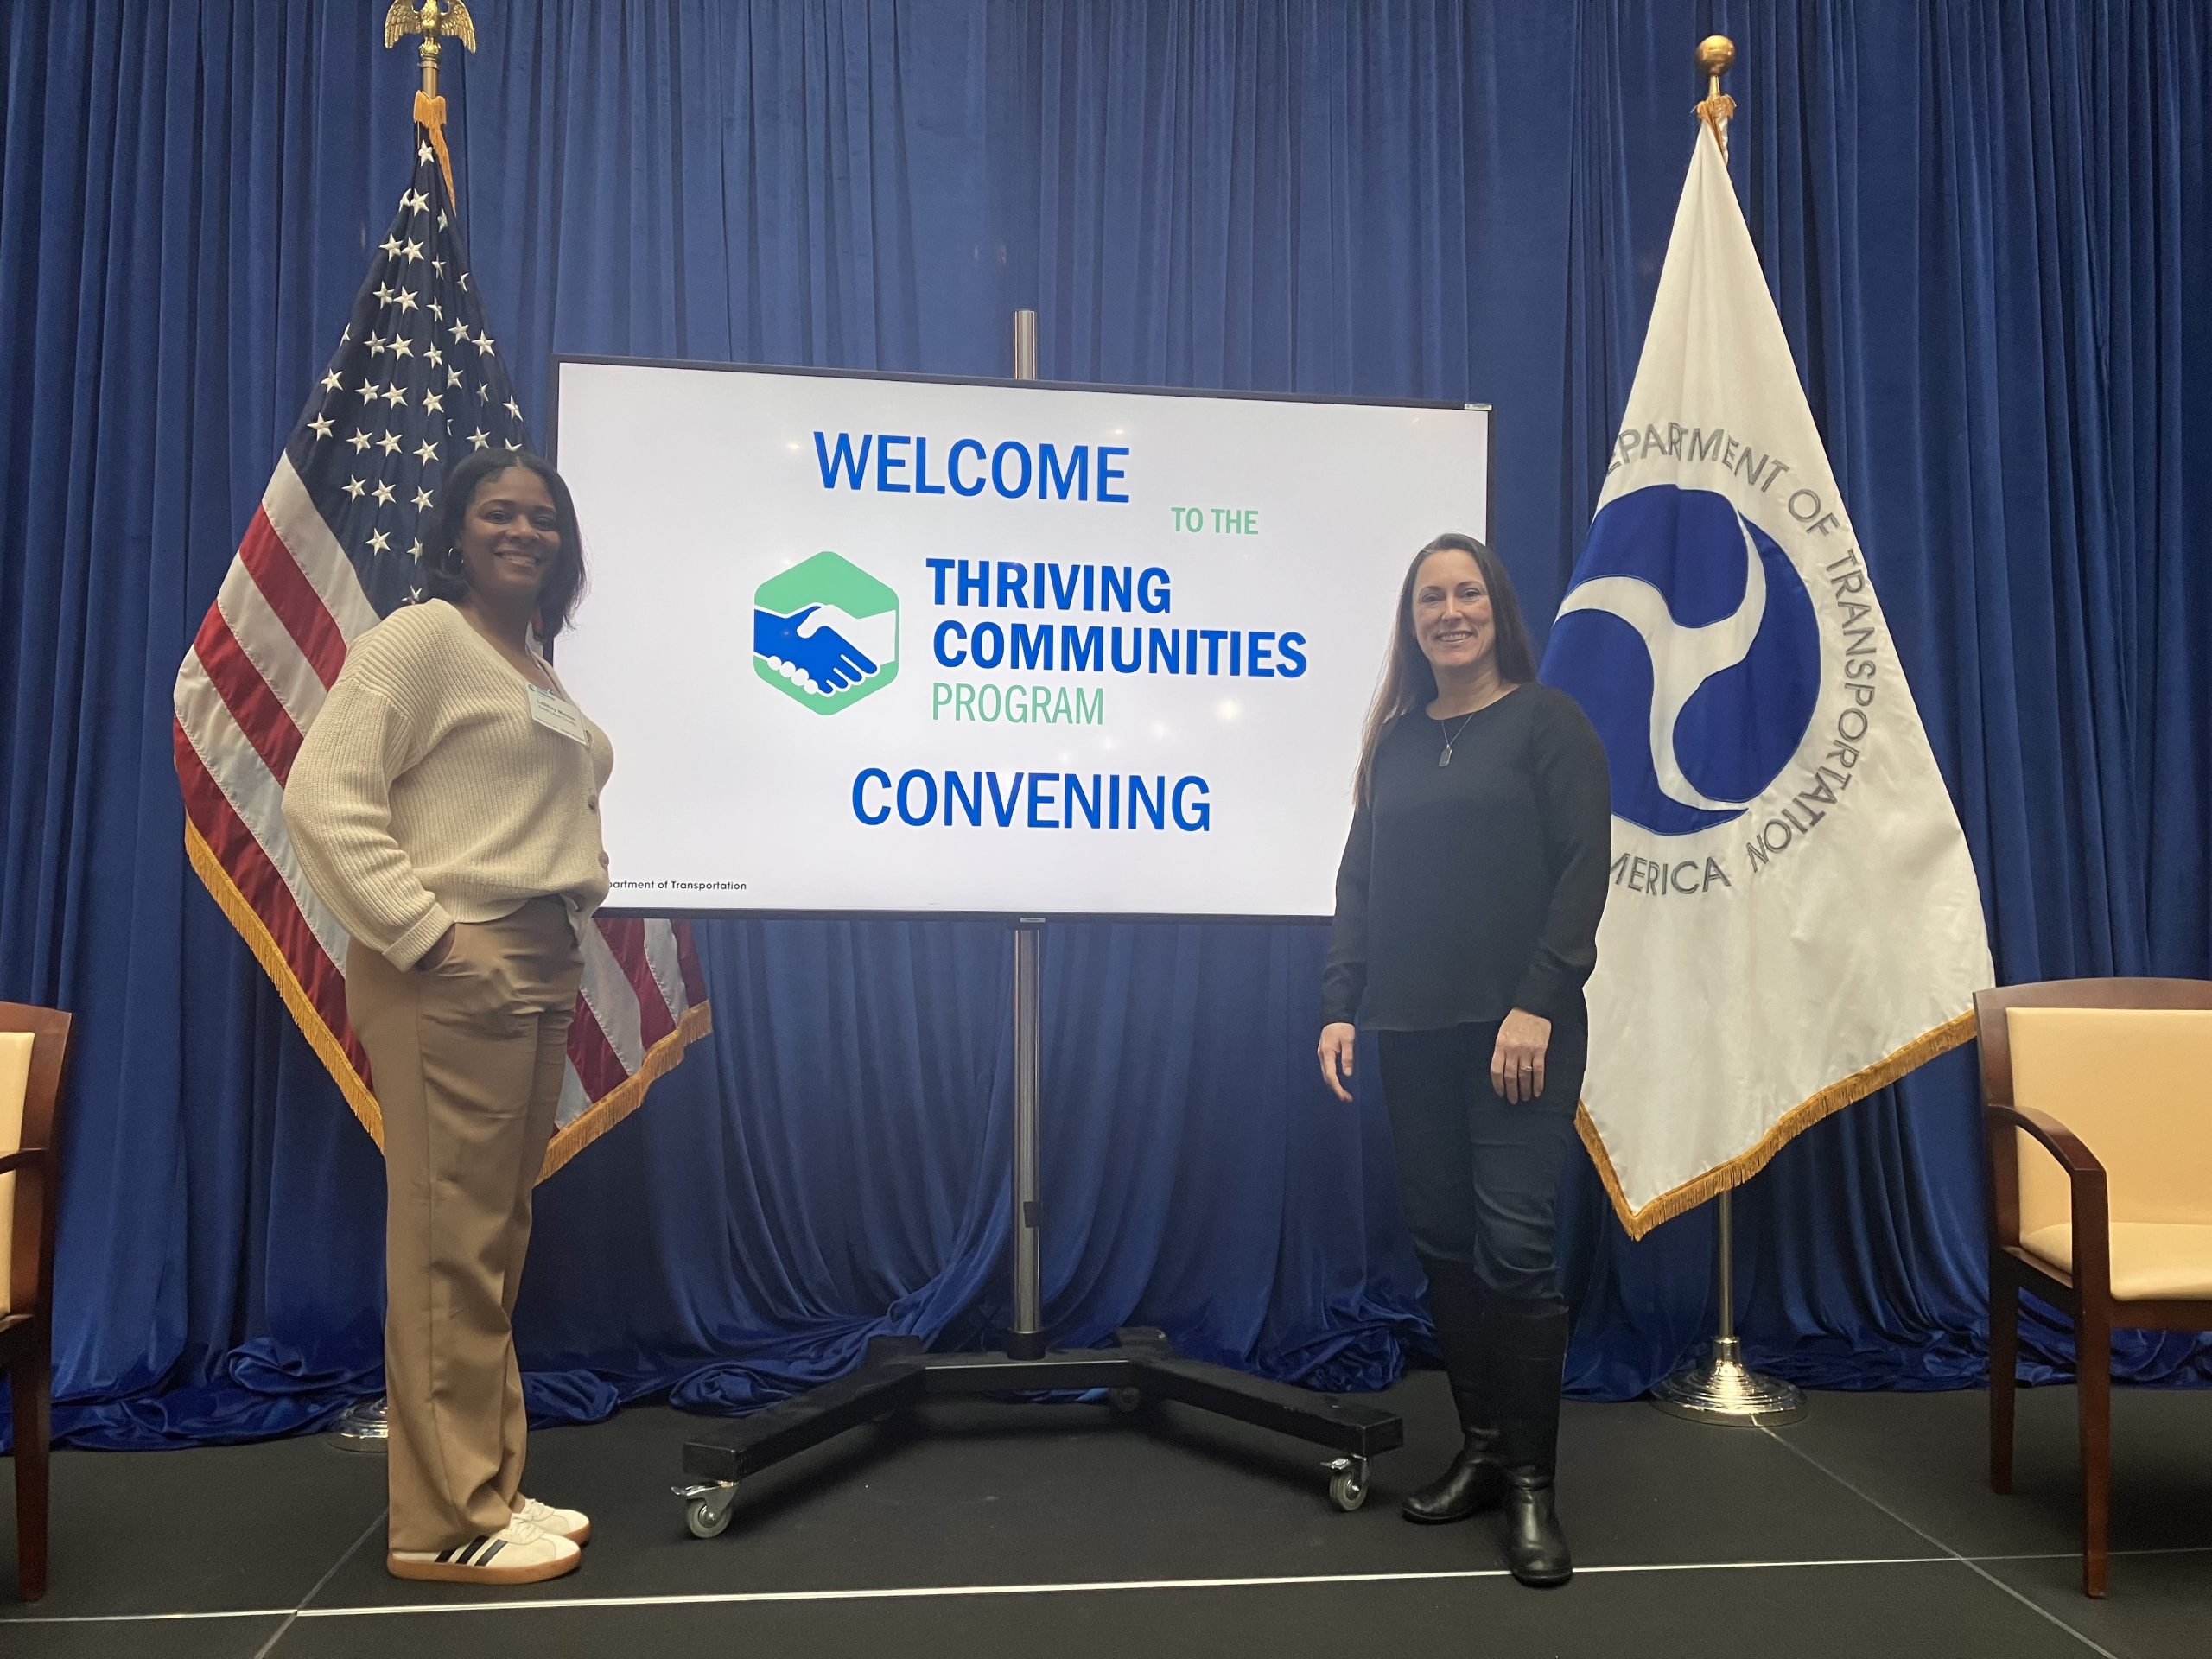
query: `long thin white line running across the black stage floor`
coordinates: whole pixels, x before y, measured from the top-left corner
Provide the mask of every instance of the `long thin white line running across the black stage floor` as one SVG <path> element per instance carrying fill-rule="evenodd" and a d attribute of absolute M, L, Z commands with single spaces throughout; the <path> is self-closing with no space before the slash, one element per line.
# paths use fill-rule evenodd
<path fill-rule="evenodd" d="M 1918 1528 L 1913 1528 L 1918 1531 Z M 1942 1548 L 1940 1540 L 1929 1540 Z M 2208 1555 L 2212 1546 L 2177 1546 L 2148 1551 L 2112 1551 L 2124 1555 Z M 1854 1555 L 1803 1562 L 1632 1562 L 1617 1566 L 1577 1566 L 1575 1577 L 1626 1577 L 1644 1573 L 1761 1573 L 1812 1571 L 1838 1566 L 1975 1566 L 1978 1562 L 2070 1562 L 2077 1551 L 2035 1551 L 2022 1555 Z M 502 1597 L 498 1601 L 407 1601 L 396 1606 L 354 1608 L 237 1608 L 226 1613 L 86 1613 L 53 1617 L 0 1617 L 9 1624 L 157 1624 L 179 1619 L 380 1619 L 414 1613 L 553 1613 L 577 1608 L 672 1608 L 672 1606 L 741 1606 L 752 1601 L 900 1601 L 995 1595 L 1106 1595 L 1115 1590 L 1265 1590 L 1323 1584 L 1436 1584 L 1458 1579 L 1502 1579 L 1502 1566 L 1449 1568 L 1433 1573 L 1305 1573 L 1287 1577 L 1219 1577 L 1219 1579 L 1097 1579 L 1088 1584 L 925 1584 L 907 1588 L 856 1590 L 708 1590 L 697 1595 L 577 1595 L 560 1599 Z M 2079 1635 L 2079 1632 L 2070 1632 Z M 2095 1646 L 2095 1644 L 2093 1644 Z M 2101 1652 L 2101 1648 L 2099 1648 Z"/>

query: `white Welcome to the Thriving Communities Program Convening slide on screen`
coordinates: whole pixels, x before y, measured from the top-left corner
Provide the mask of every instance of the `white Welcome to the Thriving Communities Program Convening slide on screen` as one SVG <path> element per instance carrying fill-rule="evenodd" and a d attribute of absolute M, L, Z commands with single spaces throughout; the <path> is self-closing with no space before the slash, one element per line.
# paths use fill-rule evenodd
<path fill-rule="evenodd" d="M 1489 409 L 555 363 L 613 911 L 1327 916 Z"/>

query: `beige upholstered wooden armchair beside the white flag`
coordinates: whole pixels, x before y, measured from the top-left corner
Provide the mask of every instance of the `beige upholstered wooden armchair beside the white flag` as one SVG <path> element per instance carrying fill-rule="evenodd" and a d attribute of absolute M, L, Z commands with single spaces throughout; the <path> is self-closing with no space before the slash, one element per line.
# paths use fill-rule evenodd
<path fill-rule="evenodd" d="M 1982 991 L 1989 1482 L 2013 1489 L 2020 1292 L 2075 1321 L 2081 1588 L 2104 1595 L 2112 1329 L 2212 1329 L 2212 982 Z"/>

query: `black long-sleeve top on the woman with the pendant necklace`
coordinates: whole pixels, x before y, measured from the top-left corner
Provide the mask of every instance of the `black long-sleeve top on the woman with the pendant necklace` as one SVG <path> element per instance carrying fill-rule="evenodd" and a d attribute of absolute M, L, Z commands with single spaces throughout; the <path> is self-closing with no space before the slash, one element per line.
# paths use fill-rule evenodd
<path fill-rule="evenodd" d="M 1604 743 L 1562 690 L 1526 684 L 1471 717 L 1396 721 L 1336 869 L 1323 1024 L 1579 1020 L 1610 812 Z"/>

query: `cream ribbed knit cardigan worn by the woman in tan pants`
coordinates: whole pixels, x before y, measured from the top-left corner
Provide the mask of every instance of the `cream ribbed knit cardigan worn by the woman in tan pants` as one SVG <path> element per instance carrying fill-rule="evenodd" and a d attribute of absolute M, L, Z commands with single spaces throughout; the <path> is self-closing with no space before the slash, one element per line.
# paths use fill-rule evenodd
<path fill-rule="evenodd" d="M 526 686 L 445 599 L 403 606 L 354 639 L 292 761 L 283 821 L 307 883 L 398 969 L 453 922 L 542 894 L 582 920 L 606 898 L 615 750 L 591 721 L 588 745 L 533 721 Z"/>

